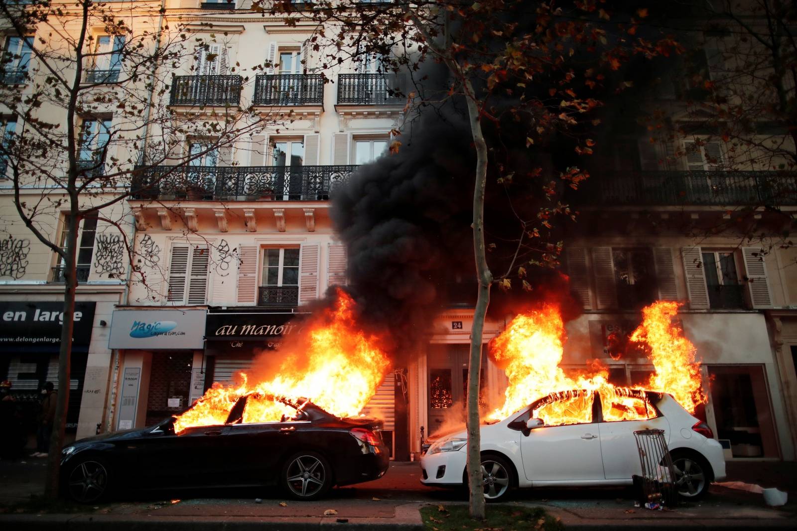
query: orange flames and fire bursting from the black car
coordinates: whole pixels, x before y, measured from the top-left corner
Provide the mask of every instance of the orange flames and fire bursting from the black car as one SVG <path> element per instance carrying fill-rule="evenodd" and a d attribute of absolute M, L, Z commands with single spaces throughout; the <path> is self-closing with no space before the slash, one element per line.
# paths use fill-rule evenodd
<path fill-rule="evenodd" d="M 296 410 L 273 397 L 307 398 L 340 417 L 355 416 L 375 394 L 388 367 L 379 337 L 366 335 L 355 322 L 355 302 L 342 290 L 324 318 L 305 328 L 300 352 L 281 363 L 277 376 L 240 386 L 214 384 L 190 410 L 175 419 L 178 433 L 187 427 L 225 423 L 238 398 L 249 395 L 244 423 L 273 422 Z"/>

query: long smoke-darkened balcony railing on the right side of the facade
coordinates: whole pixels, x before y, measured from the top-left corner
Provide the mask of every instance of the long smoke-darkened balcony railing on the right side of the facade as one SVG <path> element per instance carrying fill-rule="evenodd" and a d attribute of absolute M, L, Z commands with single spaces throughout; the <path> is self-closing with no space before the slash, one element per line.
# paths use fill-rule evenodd
<path fill-rule="evenodd" d="M 593 175 L 573 203 L 640 206 L 797 205 L 797 173 L 784 171 L 637 171 Z"/>

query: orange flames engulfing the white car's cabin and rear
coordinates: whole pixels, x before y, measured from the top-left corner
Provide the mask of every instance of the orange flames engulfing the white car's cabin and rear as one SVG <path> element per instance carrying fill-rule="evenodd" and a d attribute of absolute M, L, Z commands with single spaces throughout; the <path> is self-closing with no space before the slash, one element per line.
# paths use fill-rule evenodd
<path fill-rule="evenodd" d="M 631 340 L 650 349 L 655 372 L 645 388 L 669 392 L 689 412 L 694 412 L 697 404 L 706 402 L 706 397 L 701 392 L 700 364 L 694 359 L 696 349 L 672 322 L 677 308 L 676 302 L 668 301 L 646 307 L 642 325 L 631 335 Z M 489 414 L 488 419 L 505 419 L 534 400 L 559 391 L 565 391 L 560 395 L 562 399 L 534 412 L 547 424 L 591 422 L 588 404 L 595 391 L 600 391 L 604 419 L 650 417 L 649 407 L 630 397 L 627 387 L 616 387 L 607 381 L 606 368 L 567 375 L 559 367 L 565 340 L 564 323 L 555 305 L 520 314 L 509 323 L 490 344 L 494 359 L 505 364 L 509 384 L 504 405 Z M 585 392 L 567 392 L 575 390 Z"/>

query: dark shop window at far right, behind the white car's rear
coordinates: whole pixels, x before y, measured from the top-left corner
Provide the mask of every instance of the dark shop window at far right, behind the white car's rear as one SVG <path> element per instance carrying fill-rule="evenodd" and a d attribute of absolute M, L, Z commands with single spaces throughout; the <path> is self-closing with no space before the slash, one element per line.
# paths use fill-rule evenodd
<path fill-rule="evenodd" d="M 709 365 L 717 439 L 730 443 L 733 457 L 778 457 L 761 365 Z"/>

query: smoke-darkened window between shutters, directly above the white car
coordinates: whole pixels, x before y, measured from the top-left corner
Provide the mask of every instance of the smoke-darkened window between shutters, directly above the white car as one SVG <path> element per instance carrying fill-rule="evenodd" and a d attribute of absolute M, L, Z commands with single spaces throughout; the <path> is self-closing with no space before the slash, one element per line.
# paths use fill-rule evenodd
<path fill-rule="evenodd" d="M 634 308 L 656 299 L 656 272 L 650 249 L 612 249 L 620 308 Z"/>

